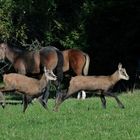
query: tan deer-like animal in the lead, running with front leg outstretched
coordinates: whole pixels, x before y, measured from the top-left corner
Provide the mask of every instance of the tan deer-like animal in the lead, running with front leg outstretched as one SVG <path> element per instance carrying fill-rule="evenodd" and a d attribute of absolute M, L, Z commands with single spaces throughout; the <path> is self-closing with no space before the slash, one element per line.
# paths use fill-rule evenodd
<path fill-rule="evenodd" d="M 61 95 L 56 100 L 55 111 L 58 110 L 58 106 L 72 94 L 81 91 L 99 91 L 99 96 L 102 101 L 102 105 L 106 108 L 106 99 L 105 96 L 114 97 L 121 108 L 124 108 L 124 105 L 118 99 L 118 97 L 112 93 L 110 90 L 119 80 L 129 80 L 129 76 L 126 73 L 126 70 L 122 68 L 122 64 L 118 65 L 118 70 L 115 71 L 112 75 L 109 76 L 75 76 L 71 79 L 70 85 L 67 91 L 67 94 Z"/>

